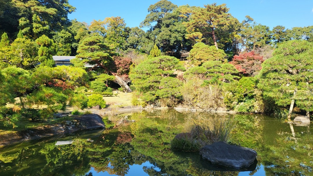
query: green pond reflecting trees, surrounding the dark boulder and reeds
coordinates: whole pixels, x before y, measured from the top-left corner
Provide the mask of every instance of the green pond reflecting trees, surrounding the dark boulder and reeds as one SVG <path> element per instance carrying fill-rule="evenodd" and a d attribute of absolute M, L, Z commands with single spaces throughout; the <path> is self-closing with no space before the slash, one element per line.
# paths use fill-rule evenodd
<path fill-rule="evenodd" d="M 126 115 L 136 122 L 1 148 L 0 175 L 313 175 L 312 124 L 296 126 L 262 115 L 175 110 L 141 111 L 121 117 Z M 175 135 L 186 132 L 193 123 L 213 126 L 225 120 L 234 125 L 231 143 L 258 152 L 252 171 L 225 171 L 210 167 L 199 153 L 171 150 Z"/>

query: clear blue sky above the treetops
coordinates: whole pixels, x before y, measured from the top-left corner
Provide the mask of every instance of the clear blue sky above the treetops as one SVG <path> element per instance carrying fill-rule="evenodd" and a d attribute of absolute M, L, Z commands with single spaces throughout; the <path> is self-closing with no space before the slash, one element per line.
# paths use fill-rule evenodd
<path fill-rule="evenodd" d="M 69 14 L 69 19 L 90 23 L 93 19 L 120 16 L 126 26 L 139 26 L 146 18 L 148 8 L 157 0 L 69 0 L 76 7 L 76 12 Z M 203 7 L 204 4 L 226 3 L 231 13 L 240 22 L 246 15 L 254 21 L 269 26 L 277 25 L 305 27 L 313 25 L 313 0 L 172 0 L 177 6 L 188 4 Z"/>

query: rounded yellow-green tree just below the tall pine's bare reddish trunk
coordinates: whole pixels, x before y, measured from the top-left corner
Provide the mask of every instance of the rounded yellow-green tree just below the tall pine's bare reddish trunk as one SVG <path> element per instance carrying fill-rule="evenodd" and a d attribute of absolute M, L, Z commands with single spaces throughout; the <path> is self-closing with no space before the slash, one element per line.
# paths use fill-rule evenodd
<path fill-rule="evenodd" d="M 209 60 L 226 62 L 225 57 L 226 54 L 223 49 L 216 49 L 215 46 L 209 46 L 199 42 L 192 46 L 188 59 L 192 60 L 192 63 L 198 66 Z"/>

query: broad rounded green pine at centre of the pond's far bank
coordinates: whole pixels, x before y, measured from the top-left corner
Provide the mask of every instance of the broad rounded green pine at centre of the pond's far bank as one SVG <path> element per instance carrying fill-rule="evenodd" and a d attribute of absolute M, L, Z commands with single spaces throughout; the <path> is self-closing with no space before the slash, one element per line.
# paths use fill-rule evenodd
<path fill-rule="evenodd" d="M 159 56 L 141 62 L 130 74 L 136 91 L 141 99 L 154 102 L 158 98 L 175 97 L 182 82 L 175 78 L 174 69 L 185 70 L 179 60 L 171 56 Z"/>

